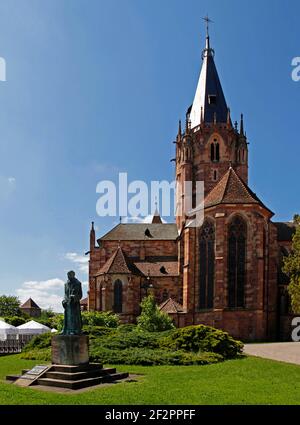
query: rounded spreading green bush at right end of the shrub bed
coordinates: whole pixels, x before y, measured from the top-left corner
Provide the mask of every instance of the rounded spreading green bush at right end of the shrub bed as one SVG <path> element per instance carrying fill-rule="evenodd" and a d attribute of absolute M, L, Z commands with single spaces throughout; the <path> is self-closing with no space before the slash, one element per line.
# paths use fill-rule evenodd
<path fill-rule="evenodd" d="M 243 349 L 243 344 L 227 332 L 204 325 L 176 329 L 161 345 L 189 352 L 214 352 L 228 359 L 237 357 Z"/>

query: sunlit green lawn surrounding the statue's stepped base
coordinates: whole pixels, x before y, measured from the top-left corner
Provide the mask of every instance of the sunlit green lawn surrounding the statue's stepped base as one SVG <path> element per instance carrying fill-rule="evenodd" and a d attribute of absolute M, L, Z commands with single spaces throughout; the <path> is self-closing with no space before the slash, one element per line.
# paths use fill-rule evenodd
<path fill-rule="evenodd" d="M 0 357 L 0 379 L 37 364 Z M 300 404 L 300 366 L 247 357 L 209 366 L 118 366 L 143 374 L 76 394 L 19 388 L 0 382 L 0 404 Z"/>

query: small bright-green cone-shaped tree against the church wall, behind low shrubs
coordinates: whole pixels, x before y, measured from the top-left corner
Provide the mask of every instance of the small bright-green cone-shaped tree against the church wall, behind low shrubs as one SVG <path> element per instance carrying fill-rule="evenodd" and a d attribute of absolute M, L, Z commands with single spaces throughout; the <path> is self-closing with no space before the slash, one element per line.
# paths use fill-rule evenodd
<path fill-rule="evenodd" d="M 172 319 L 157 307 L 153 295 L 141 302 L 142 312 L 137 319 L 139 328 L 148 332 L 161 332 L 174 328 Z"/>

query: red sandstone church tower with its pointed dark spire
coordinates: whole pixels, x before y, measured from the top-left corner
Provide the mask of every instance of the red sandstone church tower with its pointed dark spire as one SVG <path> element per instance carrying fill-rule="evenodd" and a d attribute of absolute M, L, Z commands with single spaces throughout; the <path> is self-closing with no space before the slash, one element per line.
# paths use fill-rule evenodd
<path fill-rule="evenodd" d="M 176 138 L 176 182 L 180 188 L 177 207 L 185 200 L 186 181 L 193 182 L 193 208 L 196 181 L 204 182 L 206 196 L 232 167 L 248 184 L 248 143 L 243 115 L 239 126 L 237 122 L 232 124 L 214 56 L 207 28 L 194 101 L 186 113 L 185 130 L 182 133 L 179 125 Z M 177 215 L 177 226 L 181 228 L 185 217 Z"/>

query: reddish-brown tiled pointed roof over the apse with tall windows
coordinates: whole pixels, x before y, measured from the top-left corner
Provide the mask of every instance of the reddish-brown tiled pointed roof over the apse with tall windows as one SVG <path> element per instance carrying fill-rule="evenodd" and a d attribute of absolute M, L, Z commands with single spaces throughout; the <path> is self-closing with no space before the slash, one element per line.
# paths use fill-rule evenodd
<path fill-rule="evenodd" d="M 270 211 L 232 167 L 204 199 L 204 208 L 218 204 L 257 204 Z"/>

